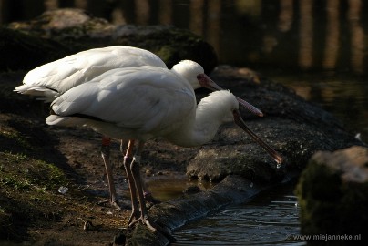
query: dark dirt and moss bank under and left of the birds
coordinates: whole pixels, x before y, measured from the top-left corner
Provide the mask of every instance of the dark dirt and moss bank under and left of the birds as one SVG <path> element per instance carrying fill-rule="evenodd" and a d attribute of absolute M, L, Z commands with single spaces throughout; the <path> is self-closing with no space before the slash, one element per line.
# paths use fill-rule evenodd
<path fill-rule="evenodd" d="M 123 209 L 113 210 L 100 203 L 108 198 L 100 135 L 46 126 L 47 106 L 12 92 L 22 76 L 0 76 L 0 244 L 108 244 L 130 215 L 119 141 L 113 141 L 111 160 Z M 142 173 L 147 179 L 184 173 L 196 151 L 152 141 Z"/>

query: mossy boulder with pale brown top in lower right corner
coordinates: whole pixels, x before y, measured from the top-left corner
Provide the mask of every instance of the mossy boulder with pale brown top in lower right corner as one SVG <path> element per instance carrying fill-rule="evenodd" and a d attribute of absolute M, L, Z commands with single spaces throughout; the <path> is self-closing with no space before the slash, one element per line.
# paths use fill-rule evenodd
<path fill-rule="evenodd" d="M 353 146 L 312 156 L 297 186 L 302 234 L 368 236 L 368 149 Z M 324 241 L 309 241 L 323 244 Z M 329 241 L 350 245 L 352 241 Z"/>

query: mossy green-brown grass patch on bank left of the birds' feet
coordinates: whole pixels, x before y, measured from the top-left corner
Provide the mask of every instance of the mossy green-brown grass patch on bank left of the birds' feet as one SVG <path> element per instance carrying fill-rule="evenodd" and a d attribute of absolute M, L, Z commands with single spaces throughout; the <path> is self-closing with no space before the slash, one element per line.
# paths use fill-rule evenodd
<path fill-rule="evenodd" d="M 60 186 L 69 188 L 66 195 L 57 191 Z M 36 231 L 56 224 L 75 225 L 80 223 L 78 217 L 94 218 L 113 229 L 126 223 L 96 210 L 96 198 L 77 190 L 63 169 L 25 154 L 0 152 L 0 187 L 0 241 L 35 241 Z"/>

